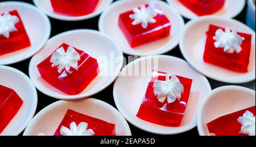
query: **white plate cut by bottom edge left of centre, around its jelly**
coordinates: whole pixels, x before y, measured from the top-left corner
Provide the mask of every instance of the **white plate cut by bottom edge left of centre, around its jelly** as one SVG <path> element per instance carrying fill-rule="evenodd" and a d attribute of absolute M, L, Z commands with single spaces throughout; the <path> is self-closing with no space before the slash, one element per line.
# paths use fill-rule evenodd
<path fill-rule="evenodd" d="M 23 135 L 52 136 L 68 109 L 115 124 L 117 136 L 131 136 L 131 130 L 125 118 L 113 106 L 94 98 L 52 103 L 36 114 Z"/>

